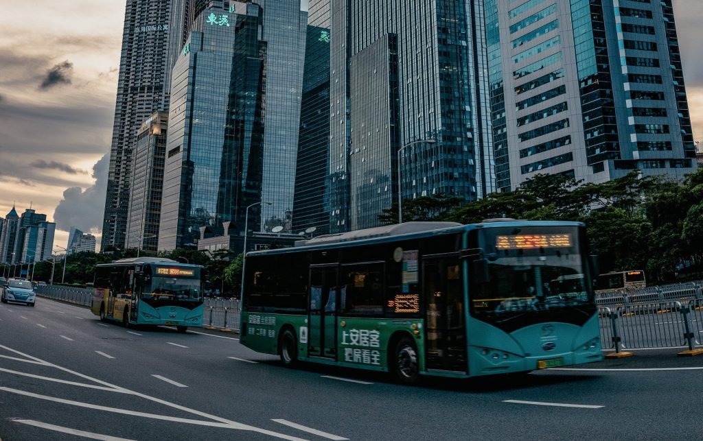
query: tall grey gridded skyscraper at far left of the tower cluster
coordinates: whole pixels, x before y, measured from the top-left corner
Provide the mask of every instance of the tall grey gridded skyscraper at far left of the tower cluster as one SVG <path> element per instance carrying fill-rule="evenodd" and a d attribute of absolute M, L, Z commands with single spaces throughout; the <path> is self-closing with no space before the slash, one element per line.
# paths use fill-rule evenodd
<path fill-rule="evenodd" d="M 167 105 L 165 71 L 172 3 L 172 0 L 127 2 L 102 249 L 107 246 L 124 247 L 136 133 L 142 121 Z M 177 41 L 174 44 L 178 44 Z"/>

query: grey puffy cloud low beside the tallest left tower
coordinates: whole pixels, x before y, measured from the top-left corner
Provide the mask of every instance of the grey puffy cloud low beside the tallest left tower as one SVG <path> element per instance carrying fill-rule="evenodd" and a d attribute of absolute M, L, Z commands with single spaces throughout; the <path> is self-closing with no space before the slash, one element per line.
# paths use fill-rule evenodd
<path fill-rule="evenodd" d="M 53 221 L 56 228 L 68 231 L 76 227 L 83 231 L 102 230 L 105 193 L 108 190 L 110 154 L 105 154 L 93 166 L 95 185 L 86 188 L 70 187 L 64 190 L 63 199 L 56 206 Z"/>

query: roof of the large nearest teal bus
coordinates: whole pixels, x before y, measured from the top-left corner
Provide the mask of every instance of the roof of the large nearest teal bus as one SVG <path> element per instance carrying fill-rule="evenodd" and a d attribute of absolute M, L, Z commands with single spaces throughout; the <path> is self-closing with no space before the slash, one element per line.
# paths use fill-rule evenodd
<path fill-rule="evenodd" d="M 549 226 L 572 226 L 583 225 L 581 222 L 571 221 L 515 221 L 515 219 L 486 220 L 483 223 L 463 225 L 456 222 L 406 222 L 394 225 L 384 225 L 382 227 L 367 228 L 366 230 L 356 230 L 332 235 L 321 235 L 309 240 L 299 240 L 295 246 L 280 249 L 251 251 L 247 256 L 264 256 L 268 254 L 285 254 L 303 251 L 303 249 L 330 249 L 336 247 L 354 246 L 357 244 L 393 242 L 396 239 L 418 239 L 421 237 L 431 237 L 434 235 L 446 235 L 453 232 L 462 232 L 474 228 L 492 227 L 549 227 Z"/>

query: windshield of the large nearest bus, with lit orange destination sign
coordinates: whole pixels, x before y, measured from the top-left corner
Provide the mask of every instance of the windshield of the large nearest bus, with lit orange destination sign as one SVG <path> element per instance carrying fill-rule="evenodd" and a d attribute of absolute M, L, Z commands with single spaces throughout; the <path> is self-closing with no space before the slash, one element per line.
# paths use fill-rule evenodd
<path fill-rule="evenodd" d="M 511 331 L 548 320 L 579 324 L 593 314 L 578 228 L 486 228 L 479 233 L 486 280 L 471 279 L 471 312 Z"/>

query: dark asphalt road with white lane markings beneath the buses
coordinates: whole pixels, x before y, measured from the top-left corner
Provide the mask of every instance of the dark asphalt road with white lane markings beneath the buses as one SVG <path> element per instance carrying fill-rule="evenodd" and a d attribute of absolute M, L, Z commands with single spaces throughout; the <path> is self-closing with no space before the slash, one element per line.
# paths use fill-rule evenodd
<path fill-rule="evenodd" d="M 400 386 L 363 371 L 285 369 L 232 334 L 125 329 L 39 298 L 0 305 L 0 439 L 699 439 L 703 357 L 637 354 Z"/>

